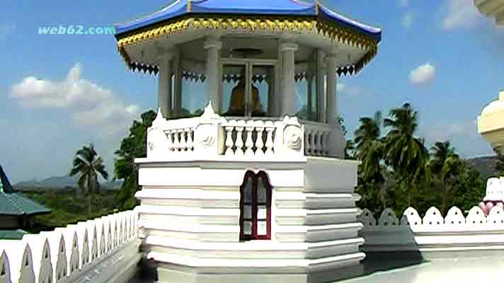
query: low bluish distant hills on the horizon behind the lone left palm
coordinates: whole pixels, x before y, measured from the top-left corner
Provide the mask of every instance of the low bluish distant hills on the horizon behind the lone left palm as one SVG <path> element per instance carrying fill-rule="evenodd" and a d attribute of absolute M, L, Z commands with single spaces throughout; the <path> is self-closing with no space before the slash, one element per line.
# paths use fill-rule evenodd
<path fill-rule="evenodd" d="M 76 177 L 59 176 L 59 177 L 50 177 L 44 180 L 29 180 L 22 181 L 13 185 L 15 188 L 54 188 L 54 189 L 64 189 L 64 188 L 75 188 L 77 187 Z M 101 183 L 101 187 L 105 190 L 118 190 L 122 185 L 122 180 L 116 181 L 108 181 L 105 183 Z"/>

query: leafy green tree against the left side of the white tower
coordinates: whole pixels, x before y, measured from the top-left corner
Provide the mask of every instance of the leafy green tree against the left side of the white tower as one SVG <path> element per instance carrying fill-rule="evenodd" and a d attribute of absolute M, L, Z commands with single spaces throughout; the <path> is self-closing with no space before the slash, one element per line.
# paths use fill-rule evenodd
<path fill-rule="evenodd" d="M 139 190 L 138 168 L 134 158 L 147 156 L 147 129 L 156 119 L 156 112 L 149 110 L 141 115 L 141 120 L 133 121 L 130 134 L 122 139 L 120 148 L 115 151 L 114 178 L 122 179 L 122 187 L 116 195 L 120 209 L 131 209 L 137 205 L 134 193 Z"/>

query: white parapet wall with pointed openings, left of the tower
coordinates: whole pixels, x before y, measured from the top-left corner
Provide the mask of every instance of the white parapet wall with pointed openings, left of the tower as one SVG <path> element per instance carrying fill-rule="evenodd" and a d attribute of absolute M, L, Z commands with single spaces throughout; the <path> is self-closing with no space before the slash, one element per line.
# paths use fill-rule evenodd
<path fill-rule="evenodd" d="M 127 282 L 141 254 L 135 211 L 0 241 L 0 283 Z"/>

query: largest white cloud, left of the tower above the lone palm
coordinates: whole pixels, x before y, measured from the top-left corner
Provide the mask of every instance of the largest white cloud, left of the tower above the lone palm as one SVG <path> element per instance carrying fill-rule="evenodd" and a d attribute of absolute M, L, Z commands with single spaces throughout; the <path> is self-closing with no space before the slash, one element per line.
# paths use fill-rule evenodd
<path fill-rule="evenodd" d="M 74 125 L 98 128 L 105 135 L 124 132 L 139 115 L 137 105 L 126 105 L 113 91 L 81 79 L 79 63 L 62 81 L 28 76 L 11 86 L 10 96 L 25 108 L 66 109 Z"/>

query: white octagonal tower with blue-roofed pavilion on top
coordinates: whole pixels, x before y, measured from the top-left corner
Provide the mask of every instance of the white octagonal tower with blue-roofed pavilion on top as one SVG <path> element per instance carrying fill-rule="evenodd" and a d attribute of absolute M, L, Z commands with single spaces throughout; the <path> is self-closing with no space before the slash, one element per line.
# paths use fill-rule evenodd
<path fill-rule="evenodd" d="M 117 31 L 127 67 L 159 77 L 135 162 L 142 250 L 160 282 L 362 273 L 336 86 L 377 54 L 379 28 L 317 3 L 183 0 Z"/>

